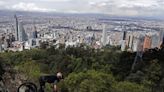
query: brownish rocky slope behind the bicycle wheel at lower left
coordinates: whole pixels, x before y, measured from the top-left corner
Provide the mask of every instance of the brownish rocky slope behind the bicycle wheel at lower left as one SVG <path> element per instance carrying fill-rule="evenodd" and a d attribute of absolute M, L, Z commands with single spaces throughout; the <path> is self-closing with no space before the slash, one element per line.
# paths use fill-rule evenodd
<path fill-rule="evenodd" d="M 5 73 L 2 75 L 3 82 L 0 83 L 0 92 L 16 92 L 27 78 L 10 66 L 5 67 Z M 2 91 L 1 91 L 2 90 Z"/>

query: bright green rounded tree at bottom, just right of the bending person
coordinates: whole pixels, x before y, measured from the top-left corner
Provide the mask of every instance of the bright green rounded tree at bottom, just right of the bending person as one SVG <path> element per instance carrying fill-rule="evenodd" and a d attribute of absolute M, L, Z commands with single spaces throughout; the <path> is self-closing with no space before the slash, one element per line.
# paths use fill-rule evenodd
<path fill-rule="evenodd" d="M 95 70 L 72 73 L 65 80 L 69 92 L 110 92 L 114 82 L 111 74 Z"/>

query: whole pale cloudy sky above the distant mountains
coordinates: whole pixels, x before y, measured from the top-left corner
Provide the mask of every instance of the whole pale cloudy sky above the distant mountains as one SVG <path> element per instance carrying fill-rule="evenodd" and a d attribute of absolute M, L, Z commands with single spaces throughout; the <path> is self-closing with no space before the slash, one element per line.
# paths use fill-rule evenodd
<path fill-rule="evenodd" d="M 164 17 L 164 0 L 0 0 L 0 9 Z"/>

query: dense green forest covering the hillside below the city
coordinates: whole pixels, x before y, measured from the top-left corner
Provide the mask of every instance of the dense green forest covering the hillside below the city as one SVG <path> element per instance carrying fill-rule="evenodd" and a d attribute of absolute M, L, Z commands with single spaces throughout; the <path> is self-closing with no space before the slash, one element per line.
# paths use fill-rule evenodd
<path fill-rule="evenodd" d="M 0 54 L 2 65 L 10 65 L 38 82 L 43 74 L 64 73 L 59 84 L 62 92 L 162 92 L 164 88 L 164 49 L 144 52 L 143 60 L 131 70 L 136 53 L 121 52 L 117 47 L 93 49 L 55 46 L 23 52 Z M 47 87 L 50 90 L 51 86 Z"/>

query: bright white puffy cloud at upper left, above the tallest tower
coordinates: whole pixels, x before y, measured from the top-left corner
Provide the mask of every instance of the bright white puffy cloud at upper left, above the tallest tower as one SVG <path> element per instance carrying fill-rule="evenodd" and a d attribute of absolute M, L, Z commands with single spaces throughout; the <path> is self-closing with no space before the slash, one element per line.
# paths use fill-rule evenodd
<path fill-rule="evenodd" d="M 55 9 L 40 8 L 35 3 L 23 3 L 20 2 L 10 7 L 13 10 L 23 10 L 23 11 L 41 11 L 41 12 L 52 12 Z"/>

